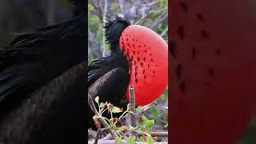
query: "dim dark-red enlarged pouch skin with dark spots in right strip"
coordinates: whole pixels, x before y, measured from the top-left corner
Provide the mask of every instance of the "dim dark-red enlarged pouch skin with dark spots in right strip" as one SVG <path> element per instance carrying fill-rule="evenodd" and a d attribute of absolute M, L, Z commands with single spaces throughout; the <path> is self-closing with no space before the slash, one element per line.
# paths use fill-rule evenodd
<path fill-rule="evenodd" d="M 170 5 L 170 142 L 234 144 L 256 109 L 255 2 Z"/>

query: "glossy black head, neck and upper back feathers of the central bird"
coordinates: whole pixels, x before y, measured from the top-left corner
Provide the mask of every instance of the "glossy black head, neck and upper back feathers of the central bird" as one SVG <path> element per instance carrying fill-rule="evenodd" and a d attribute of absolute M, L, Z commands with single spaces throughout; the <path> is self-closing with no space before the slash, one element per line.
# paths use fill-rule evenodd
<path fill-rule="evenodd" d="M 128 71 L 129 62 L 120 51 L 118 45 L 122 30 L 127 26 L 130 26 L 130 22 L 123 18 L 116 18 L 114 21 L 105 23 L 105 37 L 106 41 L 110 43 L 112 54 L 106 58 L 100 58 L 90 63 L 87 70 L 89 86 L 103 74 L 106 74 L 115 67 L 124 67 L 125 70 Z"/>

